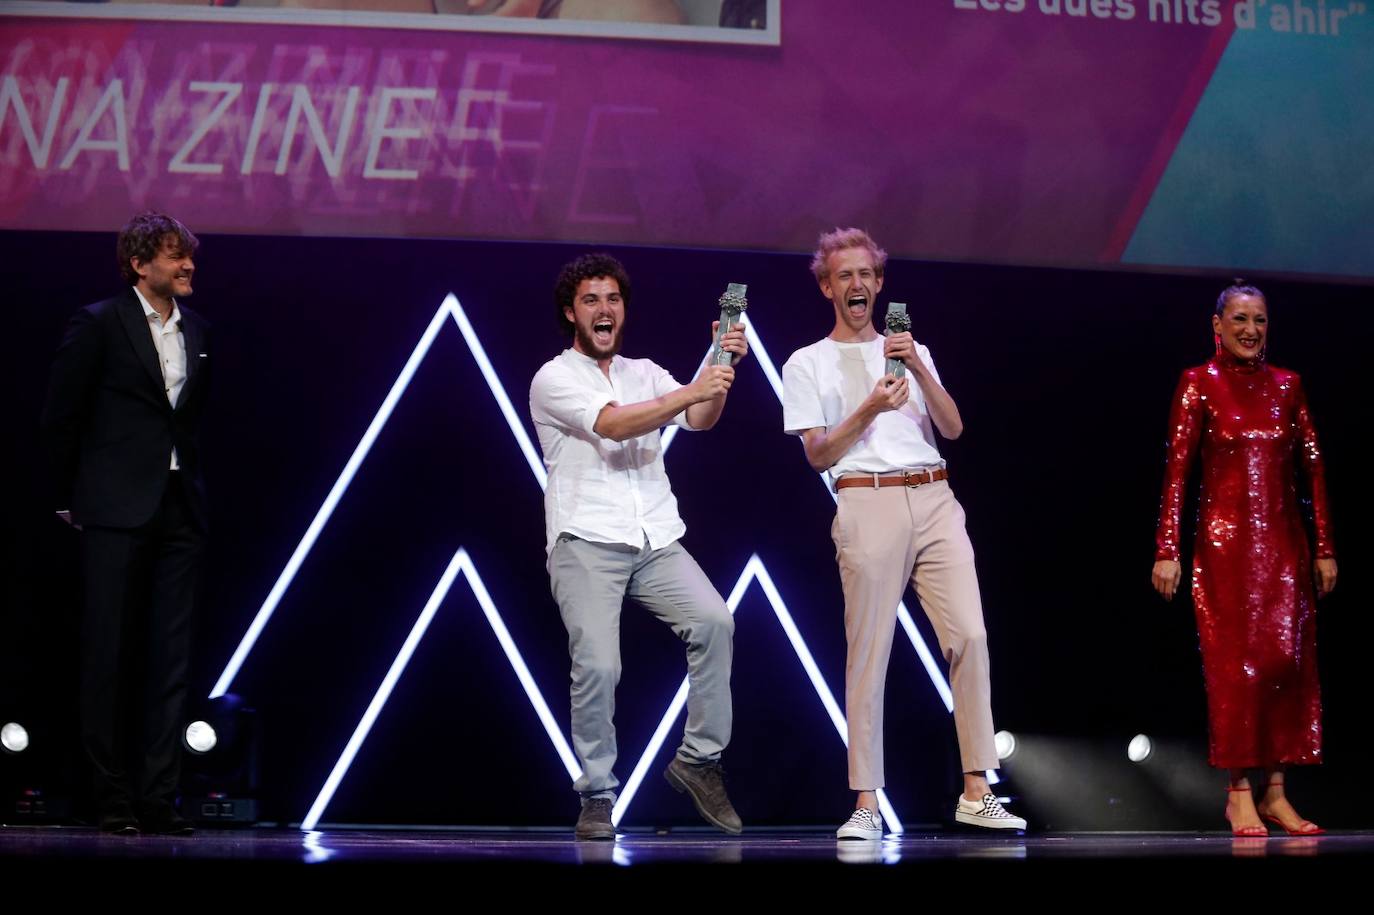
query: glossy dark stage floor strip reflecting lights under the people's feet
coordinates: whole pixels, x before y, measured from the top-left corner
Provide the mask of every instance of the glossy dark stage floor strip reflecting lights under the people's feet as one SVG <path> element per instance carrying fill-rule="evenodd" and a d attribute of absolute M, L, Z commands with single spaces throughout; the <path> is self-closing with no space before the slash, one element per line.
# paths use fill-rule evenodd
<path fill-rule="evenodd" d="M 342 870 L 349 864 L 451 867 L 526 864 L 537 870 L 654 868 L 661 866 L 885 866 L 945 863 L 1326 860 L 1363 866 L 1374 833 L 1322 837 L 1232 838 L 1223 833 L 1073 833 L 996 835 L 907 833 L 882 841 L 837 841 L 829 831 L 760 831 L 727 837 L 706 830 L 627 833 L 614 842 L 573 839 L 566 830 L 199 830 L 191 837 L 113 837 L 78 827 L 0 828 L 0 864 L 71 866 L 114 861 L 271 863 Z"/>

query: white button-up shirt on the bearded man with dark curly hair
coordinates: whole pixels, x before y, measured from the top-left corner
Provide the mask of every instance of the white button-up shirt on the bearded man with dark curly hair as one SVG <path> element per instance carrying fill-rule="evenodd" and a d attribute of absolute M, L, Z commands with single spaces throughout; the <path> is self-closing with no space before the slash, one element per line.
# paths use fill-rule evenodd
<path fill-rule="evenodd" d="M 682 387 L 647 359 L 616 356 L 610 378 L 596 360 L 565 349 L 544 363 L 529 386 L 529 414 L 548 468 L 544 548 L 561 533 L 596 543 L 661 550 L 683 536 L 677 500 L 668 485 L 658 430 L 614 441 L 592 431 L 606 404 L 638 404 Z M 673 416 L 683 429 L 687 411 Z"/>

